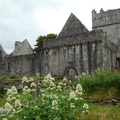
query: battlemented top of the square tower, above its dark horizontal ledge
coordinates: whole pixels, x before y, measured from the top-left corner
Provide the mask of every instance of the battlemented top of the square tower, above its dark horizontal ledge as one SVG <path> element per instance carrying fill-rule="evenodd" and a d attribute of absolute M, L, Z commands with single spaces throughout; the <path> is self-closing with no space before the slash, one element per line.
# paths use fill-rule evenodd
<path fill-rule="evenodd" d="M 120 9 L 104 11 L 102 8 L 99 13 L 92 11 L 92 28 L 99 28 L 120 24 Z"/>

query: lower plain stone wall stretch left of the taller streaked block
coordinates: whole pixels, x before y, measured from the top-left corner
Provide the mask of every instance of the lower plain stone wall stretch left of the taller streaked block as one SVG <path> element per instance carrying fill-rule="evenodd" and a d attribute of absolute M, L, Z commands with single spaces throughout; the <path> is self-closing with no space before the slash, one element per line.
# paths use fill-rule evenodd
<path fill-rule="evenodd" d="M 35 76 L 39 71 L 41 54 L 7 56 L 3 63 L 3 73 L 6 75 Z"/>

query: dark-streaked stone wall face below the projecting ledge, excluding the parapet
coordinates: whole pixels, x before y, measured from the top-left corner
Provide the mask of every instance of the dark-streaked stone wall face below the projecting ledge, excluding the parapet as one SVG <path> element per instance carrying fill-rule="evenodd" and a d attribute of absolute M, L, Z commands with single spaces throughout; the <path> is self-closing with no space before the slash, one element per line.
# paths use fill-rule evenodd
<path fill-rule="evenodd" d="M 108 50 L 106 52 L 106 49 Z M 115 69 L 117 48 L 107 42 L 86 42 L 76 45 L 49 48 L 44 51 L 42 73 L 64 76 L 66 71 L 73 69 L 77 74 L 91 72 L 103 67 Z M 68 68 L 68 69 L 67 69 Z"/>

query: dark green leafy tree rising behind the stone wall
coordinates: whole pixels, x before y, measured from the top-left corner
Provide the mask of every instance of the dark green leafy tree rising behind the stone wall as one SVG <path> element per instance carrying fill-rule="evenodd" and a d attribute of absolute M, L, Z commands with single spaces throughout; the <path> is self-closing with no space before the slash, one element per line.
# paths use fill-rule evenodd
<path fill-rule="evenodd" d="M 36 39 L 36 45 L 35 45 L 35 48 L 34 48 L 34 51 L 37 53 L 37 52 L 40 52 L 42 49 L 43 49 L 43 40 L 47 40 L 47 39 L 54 39 L 56 38 L 57 35 L 56 34 L 47 34 L 47 35 L 44 35 L 44 36 L 39 36 L 37 39 Z"/>

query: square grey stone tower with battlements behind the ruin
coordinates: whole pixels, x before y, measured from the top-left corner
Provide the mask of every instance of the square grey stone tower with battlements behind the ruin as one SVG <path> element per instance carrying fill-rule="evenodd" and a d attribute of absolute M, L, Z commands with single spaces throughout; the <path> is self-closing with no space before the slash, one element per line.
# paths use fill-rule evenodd
<path fill-rule="evenodd" d="M 120 39 L 120 9 L 92 11 L 92 28 L 102 29 L 108 39 L 117 44 Z"/>

